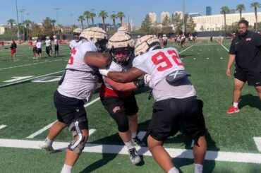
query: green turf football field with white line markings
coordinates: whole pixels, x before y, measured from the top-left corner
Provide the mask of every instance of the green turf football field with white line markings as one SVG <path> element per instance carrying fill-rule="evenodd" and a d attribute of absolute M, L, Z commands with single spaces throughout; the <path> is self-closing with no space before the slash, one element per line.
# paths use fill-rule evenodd
<path fill-rule="evenodd" d="M 245 85 L 241 111 L 226 114 L 233 91 L 233 78 L 226 77 L 230 40 L 224 40 L 223 46 L 215 40 L 188 43 L 184 49 L 169 46 L 180 52 L 198 97 L 205 103 L 204 172 L 261 172 L 261 103 L 255 89 Z M 52 97 L 70 49 L 60 45 L 60 56 L 52 58 L 44 50 L 43 47 L 42 59 L 37 61 L 32 59 L 30 47 L 18 45 L 16 61 L 8 61 L 10 50 L 0 49 L 0 172 L 59 172 L 63 166 L 64 150 L 71 141 L 68 130 L 56 138 L 54 149 L 58 151 L 54 154 L 40 150 L 38 144 L 56 120 Z M 147 100 L 149 88 L 135 93 L 140 107 L 138 135 L 144 136 L 154 100 Z M 92 133 L 73 172 L 163 172 L 146 147 L 138 148 L 143 159 L 140 165 L 130 162 L 116 124 L 97 98 L 96 92 L 93 102 L 86 105 Z M 191 143 L 180 132 L 164 145 L 180 172 L 193 172 Z"/>

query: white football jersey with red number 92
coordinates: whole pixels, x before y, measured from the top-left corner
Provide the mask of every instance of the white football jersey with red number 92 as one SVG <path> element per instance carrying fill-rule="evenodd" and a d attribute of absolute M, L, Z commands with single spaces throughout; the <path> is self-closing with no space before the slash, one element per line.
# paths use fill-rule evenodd
<path fill-rule="evenodd" d="M 169 85 L 166 76 L 173 71 L 185 70 L 178 51 L 173 47 L 156 49 L 133 60 L 133 67 L 139 68 L 151 76 L 150 88 L 154 99 L 184 98 L 195 95 L 195 89 L 188 78 L 178 81 L 178 85 Z"/>

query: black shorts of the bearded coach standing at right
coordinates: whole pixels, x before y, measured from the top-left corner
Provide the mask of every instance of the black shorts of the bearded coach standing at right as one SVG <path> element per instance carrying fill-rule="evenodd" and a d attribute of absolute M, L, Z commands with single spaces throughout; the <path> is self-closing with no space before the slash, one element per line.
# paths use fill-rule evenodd
<path fill-rule="evenodd" d="M 245 81 L 248 81 L 248 85 L 261 86 L 261 73 L 245 73 L 240 68 L 236 67 L 233 76 L 244 83 Z"/>

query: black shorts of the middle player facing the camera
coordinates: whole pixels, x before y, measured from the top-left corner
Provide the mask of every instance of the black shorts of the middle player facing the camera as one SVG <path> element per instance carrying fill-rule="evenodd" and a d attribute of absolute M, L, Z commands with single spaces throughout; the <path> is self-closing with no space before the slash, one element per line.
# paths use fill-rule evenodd
<path fill-rule="evenodd" d="M 134 93 L 126 98 L 119 97 L 101 97 L 102 105 L 107 109 L 109 115 L 114 118 L 114 107 L 121 107 L 127 116 L 132 116 L 138 112 L 138 105 Z"/>

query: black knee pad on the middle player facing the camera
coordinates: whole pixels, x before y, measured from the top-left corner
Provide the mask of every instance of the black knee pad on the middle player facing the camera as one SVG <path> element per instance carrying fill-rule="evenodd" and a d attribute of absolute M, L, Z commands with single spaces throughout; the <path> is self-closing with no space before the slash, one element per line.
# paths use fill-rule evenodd
<path fill-rule="evenodd" d="M 114 119 L 116 121 L 116 124 L 118 126 L 119 132 L 126 132 L 128 131 L 128 118 L 125 112 L 122 110 L 118 110 L 114 113 Z"/>

